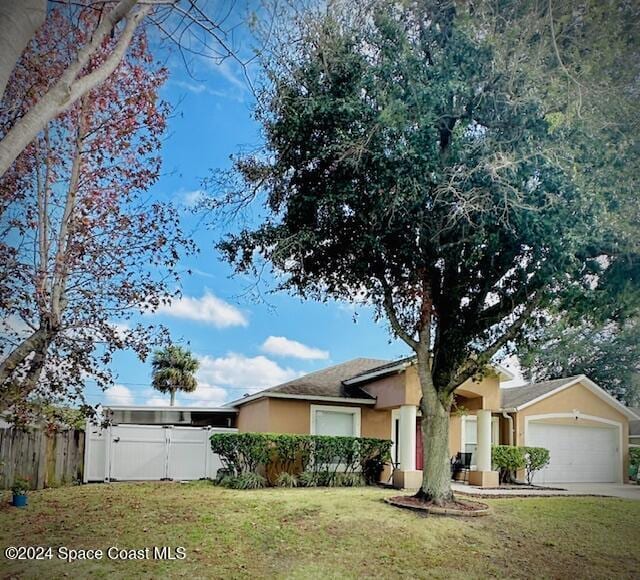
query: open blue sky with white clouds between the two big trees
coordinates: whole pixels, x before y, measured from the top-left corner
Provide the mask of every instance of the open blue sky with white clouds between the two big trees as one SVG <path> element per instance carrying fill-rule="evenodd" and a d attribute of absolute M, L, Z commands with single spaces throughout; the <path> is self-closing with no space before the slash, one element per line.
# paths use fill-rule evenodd
<path fill-rule="evenodd" d="M 390 341 L 386 324 L 374 322 L 369 308 L 303 302 L 285 294 L 267 295 L 268 303 L 242 297 L 251 281 L 232 277 L 213 247 L 224 230 L 198 225 L 188 206 L 210 170 L 229 167 L 231 154 L 260 144 L 259 127 L 251 118 L 252 97 L 238 65 L 201 61 L 194 67 L 195 79 L 179 59 L 169 60 L 163 97 L 176 111 L 164 143 L 163 176 L 153 190 L 183 209 L 184 227 L 194 230 L 200 248 L 180 264 L 193 271 L 182 276 L 183 299 L 148 317 L 166 325 L 175 341 L 188 343 L 201 361 L 198 390 L 178 395 L 178 404 L 217 405 L 354 357 L 408 354 L 403 343 Z M 167 404 L 168 397 L 150 387 L 149 361 L 122 353 L 113 370 L 117 385 L 102 393 L 88 383 L 89 402 Z"/>

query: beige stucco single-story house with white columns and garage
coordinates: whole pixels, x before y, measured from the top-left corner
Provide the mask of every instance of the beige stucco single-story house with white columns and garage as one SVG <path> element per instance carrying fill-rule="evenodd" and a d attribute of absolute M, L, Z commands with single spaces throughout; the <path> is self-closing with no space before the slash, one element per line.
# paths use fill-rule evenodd
<path fill-rule="evenodd" d="M 491 444 L 547 447 L 536 483 L 622 482 L 629 421 L 636 416 L 583 375 L 501 388 L 513 378 L 494 366 L 455 392 L 449 452 L 471 452 L 469 482 L 492 487 Z M 240 431 L 380 437 L 393 442 L 383 474 L 397 487 L 422 479 L 420 387 L 413 359 L 358 358 L 233 401 Z"/>

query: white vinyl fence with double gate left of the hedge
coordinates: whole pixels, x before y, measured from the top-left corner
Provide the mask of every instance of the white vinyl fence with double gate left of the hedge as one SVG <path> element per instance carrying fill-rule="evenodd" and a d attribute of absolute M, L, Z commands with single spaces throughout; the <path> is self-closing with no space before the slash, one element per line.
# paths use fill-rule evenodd
<path fill-rule="evenodd" d="M 215 478 L 222 467 L 212 433 L 237 429 L 171 425 L 88 426 L 85 482 Z"/>

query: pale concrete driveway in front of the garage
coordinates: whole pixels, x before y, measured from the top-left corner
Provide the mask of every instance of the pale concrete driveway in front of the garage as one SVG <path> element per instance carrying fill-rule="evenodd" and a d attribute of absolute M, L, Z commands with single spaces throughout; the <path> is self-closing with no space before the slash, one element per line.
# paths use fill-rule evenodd
<path fill-rule="evenodd" d="M 483 489 L 466 483 L 456 482 L 451 484 L 451 488 L 454 492 L 474 497 L 554 497 L 590 495 L 640 500 L 640 485 L 635 484 L 563 483 L 558 485 L 558 487 L 562 487 L 562 489 Z"/>

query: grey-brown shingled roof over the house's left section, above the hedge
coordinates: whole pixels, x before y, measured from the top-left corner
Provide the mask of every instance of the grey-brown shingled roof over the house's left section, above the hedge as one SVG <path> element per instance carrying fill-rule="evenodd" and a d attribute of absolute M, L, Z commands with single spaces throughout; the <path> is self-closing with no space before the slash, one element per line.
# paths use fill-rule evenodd
<path fill-rule="evenodd" d="M 354 358 L 339 365 L 303 375 L 292 381 L 270 387 L 253 395 L 232 401 L 229 405 L 242 405 L 262 397 L 357 399 L 374 403 L 375 398 L 356 386 L 345 384 L 347 379 L 388 364 L 389 361 L 373 358 Z"/>

